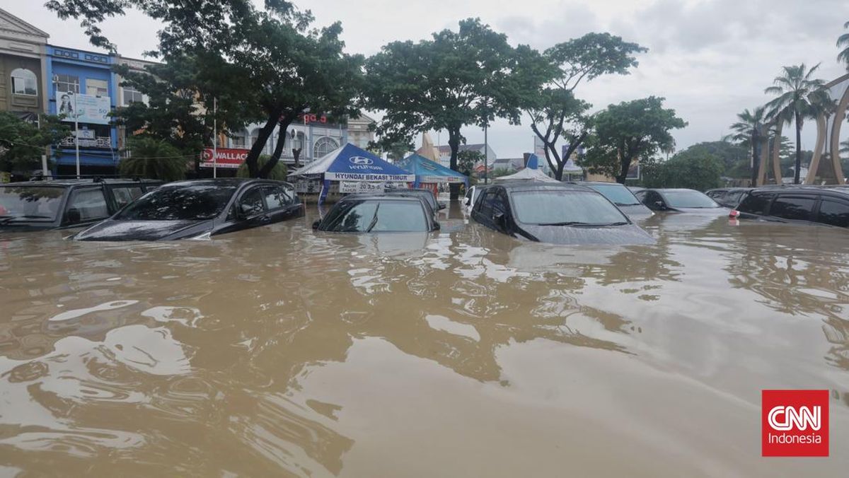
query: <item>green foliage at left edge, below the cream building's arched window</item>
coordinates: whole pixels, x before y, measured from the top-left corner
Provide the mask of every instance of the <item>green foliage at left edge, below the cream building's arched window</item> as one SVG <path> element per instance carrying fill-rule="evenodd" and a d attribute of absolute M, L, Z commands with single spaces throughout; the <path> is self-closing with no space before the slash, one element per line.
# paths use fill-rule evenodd
<path fill-rule="evenodd" d="M 42 169 L 42 155 L 50 144 L 69 134 L 59 116 L 41 115 L 39 125 L 0 111 L 0 171 Z"/>

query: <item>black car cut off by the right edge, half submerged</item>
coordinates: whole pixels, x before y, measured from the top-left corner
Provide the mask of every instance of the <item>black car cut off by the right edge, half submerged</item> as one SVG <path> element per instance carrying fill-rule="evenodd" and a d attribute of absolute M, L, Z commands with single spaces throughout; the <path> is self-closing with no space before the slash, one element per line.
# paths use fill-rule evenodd
<path fill-rule="evenodd" d="M 756 188 L 746 194 L 730 216 L 849 228 L 849 188 Z"/>

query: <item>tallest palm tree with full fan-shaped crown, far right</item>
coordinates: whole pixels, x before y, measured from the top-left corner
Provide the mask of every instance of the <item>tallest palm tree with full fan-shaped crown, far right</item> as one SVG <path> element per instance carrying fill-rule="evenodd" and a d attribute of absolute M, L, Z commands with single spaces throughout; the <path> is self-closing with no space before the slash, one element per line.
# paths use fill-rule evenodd
<path fill-rule="evenodd" d="M 801 169 L 801 127 L 807 118 L 816 117 L 833 104 L 829 93 L 825 91 L 825 83 L 812 76 L 819 65 L 810 70 L 805 64 L 784 66 L 784 74 L 776 76 L 773 86 L 764 93 L 777 95 L 777 98 L 767 103 L 768 115 L 773 121 L 785 124 L 796 122 L 796 171 L 793 183 L 799 183 Z"/>

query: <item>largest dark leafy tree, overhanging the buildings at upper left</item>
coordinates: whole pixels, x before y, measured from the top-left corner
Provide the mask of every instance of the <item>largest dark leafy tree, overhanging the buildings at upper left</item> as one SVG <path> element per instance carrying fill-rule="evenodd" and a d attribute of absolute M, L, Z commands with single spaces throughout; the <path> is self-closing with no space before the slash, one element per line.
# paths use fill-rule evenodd
<path fill-rule="evenodd" d="M 162 22 L 158 53 L 166 61 L 197 59 L 195 100 L 212 109 L 213 100 L 234 129 L 261 121 L 245 163 L 251 177 L 267 177 L 284 151 L 286 131 L 306 111 L 357 115 L 351 100 L 361 80 L 363 58 L 344 53 L 340 24 L 312 28 L 314 18 L 284 0 L 257 9 L 250 0 L 51 0 L 60 18 L 83 18 L 91 41 L 111 47 L 98 23 L 138 8 Z M 202 87 L 202 88 L 201 88 Z M 278 127 L 270 160 L 258 166 L 261 151 Z"/>

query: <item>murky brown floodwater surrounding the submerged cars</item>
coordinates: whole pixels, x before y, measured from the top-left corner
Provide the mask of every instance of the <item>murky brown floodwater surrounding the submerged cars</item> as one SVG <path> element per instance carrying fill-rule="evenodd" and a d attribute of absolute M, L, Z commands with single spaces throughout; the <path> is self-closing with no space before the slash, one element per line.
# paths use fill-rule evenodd
<path fill-rule="evenodd" d="M 448 215 L 0 236 L 0 475 L 846 475 L 846 231 L 666 215 L 598 249 Z M 762 389 L 831 391 L 831 457 L 761 458 Z"/>

